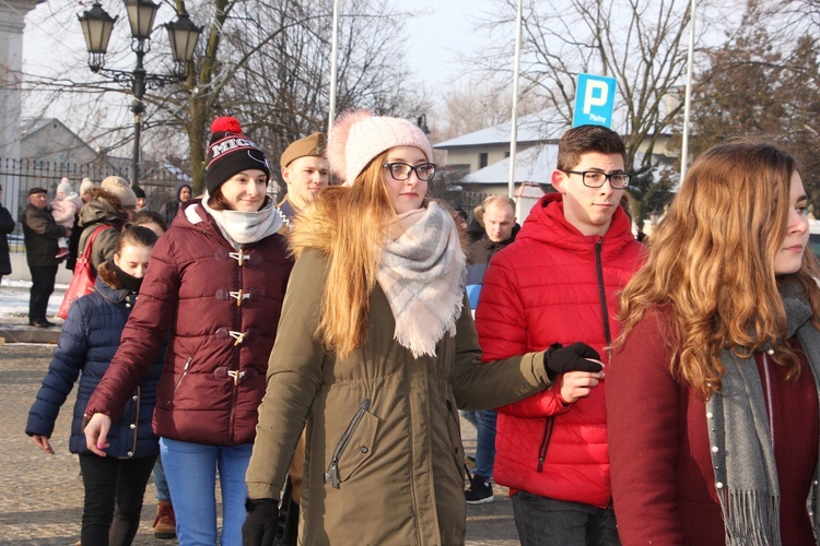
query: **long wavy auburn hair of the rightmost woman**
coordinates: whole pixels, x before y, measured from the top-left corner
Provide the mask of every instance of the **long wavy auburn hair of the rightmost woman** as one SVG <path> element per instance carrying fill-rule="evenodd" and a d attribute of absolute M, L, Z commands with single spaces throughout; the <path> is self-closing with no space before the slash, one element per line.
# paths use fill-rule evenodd
<path fill-rule="evenodd" d="M 719 392 L 721 351 L 751 357 L 771 343 L 773 360 L 799 373 L 784 343 L 780 284 L 797 281 L 820 325 L 819 276 L 810 250 L 800 270 L 777 278 L 774 258 L 786 236 L 797 161 L 771 144 L 735 141 L 704 152 L 687 174 L 667 216 L 648 238 L 648 260 L 620 299 L 622 344 L 647 309 L 670 312 L 672 375 L 704 400 Z"/>

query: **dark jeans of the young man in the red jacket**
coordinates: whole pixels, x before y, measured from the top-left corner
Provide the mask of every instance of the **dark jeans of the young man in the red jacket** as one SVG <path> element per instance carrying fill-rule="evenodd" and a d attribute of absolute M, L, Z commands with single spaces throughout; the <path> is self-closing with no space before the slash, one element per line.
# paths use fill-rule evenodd
<path fill-rule="evenodd" d="M 513 496 L 513 515 L 523 546 L 621 544 L 611 509 L 518 491 Z"/>

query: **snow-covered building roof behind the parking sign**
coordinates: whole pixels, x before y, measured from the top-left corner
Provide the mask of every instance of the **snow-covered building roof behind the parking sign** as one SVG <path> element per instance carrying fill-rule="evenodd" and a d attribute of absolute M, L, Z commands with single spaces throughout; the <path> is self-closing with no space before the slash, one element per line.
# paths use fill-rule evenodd
<path fill-rule="evenodd" d="M 518 118 L 516 140 L 518 143 L 558 141 L 567 129 L 570 129 L 570 126 L 561 120 L 554 110 L 541 110 Z M 511 123 L 507 121 L 440 142 L 434 144 L 433 147 L 447 150 L 464 146 L 509 145 L 509 136 Z"/>

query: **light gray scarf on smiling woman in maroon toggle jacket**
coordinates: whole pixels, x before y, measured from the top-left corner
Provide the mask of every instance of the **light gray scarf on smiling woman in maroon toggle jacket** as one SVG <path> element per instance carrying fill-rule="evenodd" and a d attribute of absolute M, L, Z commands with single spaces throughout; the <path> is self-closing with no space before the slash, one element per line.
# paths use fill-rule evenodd
<path fill-rule="evenodd" d="M 202 207 L 213 216 L 216 221 L 216 225 L 222 232 L 222 236 L 235 248 L 239 249 L 243 245 L 250 245 L 262 240 L 269 235 L 278 233 L 282 228 L 282 215 L 279 213 L 279 209 L 273 206 L 273 202 L 268 200 L 268 203 L 256 212 L 242 212 L 242 211 L 214 211 L 208 206 L 208 200 L 210 195 L 206 190 L 202 195 Z M 194 222 L 188 211 L 196 216 L 196 207 L 188 206 L 185 211 L 188 221 L 191 224 Z"/>

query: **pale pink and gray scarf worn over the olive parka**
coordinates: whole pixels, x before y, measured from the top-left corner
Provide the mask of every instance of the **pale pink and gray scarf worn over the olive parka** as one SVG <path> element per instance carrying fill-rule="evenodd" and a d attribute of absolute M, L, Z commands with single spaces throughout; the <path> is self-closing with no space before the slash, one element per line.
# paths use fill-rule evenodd
<path fill-rule="evenodd" d="M 376 281 L 396 320 L 395 340 L 415 358 L 435 356 L 445 333 L 455 335 L 467 275 L 453 217 L 431 202 L 399 216 L 387 237 Z"/>

